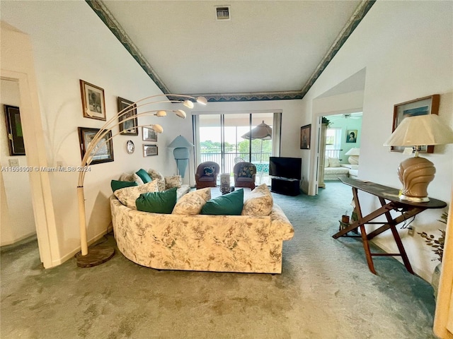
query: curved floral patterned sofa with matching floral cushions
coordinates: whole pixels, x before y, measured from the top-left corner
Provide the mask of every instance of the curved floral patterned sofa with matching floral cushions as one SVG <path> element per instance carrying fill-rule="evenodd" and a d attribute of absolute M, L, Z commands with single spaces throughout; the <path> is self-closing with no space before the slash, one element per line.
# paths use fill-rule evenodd
<path fill-rule="evenodd" d="M 115 194 L 117 191 L 115 192 Z M 294 229 L 265 184 L 243 200 L 241 215 L 202 215 L 210 188 L 181 197 L 171 214 L 142 212 L 110 198 L 118 249 L 159 270 L 281 273 L 282 244 Z"/>

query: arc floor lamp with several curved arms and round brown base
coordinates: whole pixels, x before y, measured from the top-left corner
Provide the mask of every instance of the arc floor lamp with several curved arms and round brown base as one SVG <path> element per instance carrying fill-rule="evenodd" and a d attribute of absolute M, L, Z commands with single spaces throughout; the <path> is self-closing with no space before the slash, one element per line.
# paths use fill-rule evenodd
<path fill-rule="evenodd" d="M 155 100 L 156 97 L 167 97 L 166 100 Z M 88 144 L 86 152 L 81 161 L 81 167 L 86 167 L 91 164 L 93 160 L 93 155 L 96 154 L 96 151 L 101 148 L 105 143 L 108 143 L 115 136 L 119 135 L 121 132 L 113 133 L 112 129 L 124 123 L 125 121 L 135 119 L 136 117 L 144 116 L 156 116 L 156 117 L 165 117 L 168 112 L 175 113 L 178 117 L 185 119 L 186 115 L 183 109 L 167 110 L 167 109 L 151 109 L 145 110 L 144 112 L 137 112 L 136 115 L 132 117 L 125 117 L 125 114 L 131 112 L 133 109 L 138 109 L 139 107 L 144 107 L 147 105 L 161 104 L 165 102 L 173 102 L 183 104 L 185 107 L 192 109 L 194 103 L 192 100 L 201 105 L 207 105 L 207 100 L 205 97 L 192 97 L 190 95 L 179 95 L 179 94 L 159 94 L 151 95 L 149 97 L 144 97 L 131 105 L 127 106 L 125 109 L 122 109 L 120 112 L 115 114 L 110 120 L 105 122 L 101 129 L 93 136 L 93 139 Z M 87 112 L 89 114 L 89 111 Z M 125 117 L 125 119 L 120 120 L 119 118 Z M 159 124 L 143 124 L 136 126 L 137 128 L 142 126 L 151 126 L 154 131 L 157 133 L 162 133 L 164 129 Z M 135 127 L 134 127 L 135 128 Z M 112 132 L 112 136 L 108 139 L 104 137 Z M 84 194 L 84 180 L 86 172 L 79 172 L 79 180 L 77 184 L 77 199 L 79 203 L 79 228 L 80 228 L 80 246 L 81 251 L 76 254 L 77 266 L 79 267 L 92 267 L 105 263 L 115 254 L 115 249 L 108 248 L 105 246 L 92 247 L 88 249 L 88 239 L 86 232 L 86 210 L 85 210 L 85 194 Z"/>

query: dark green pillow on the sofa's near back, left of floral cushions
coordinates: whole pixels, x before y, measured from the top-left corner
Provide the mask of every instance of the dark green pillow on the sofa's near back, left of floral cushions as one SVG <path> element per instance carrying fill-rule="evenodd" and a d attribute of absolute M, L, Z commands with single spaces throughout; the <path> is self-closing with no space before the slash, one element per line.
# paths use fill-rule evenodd
<path fill-rule="evenodd" d="M 171 214 L 176 205 L 176 187 L 162 192 L 142 193 L 135 201 L 137 210 L 151 213 Z"/>

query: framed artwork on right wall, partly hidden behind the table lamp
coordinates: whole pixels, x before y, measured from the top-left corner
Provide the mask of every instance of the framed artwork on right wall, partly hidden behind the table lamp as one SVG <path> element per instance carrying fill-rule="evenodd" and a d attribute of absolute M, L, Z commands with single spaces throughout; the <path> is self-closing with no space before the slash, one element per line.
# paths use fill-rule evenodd
<path fill-rule="evenodd" d="M 439 101 L 440 95 L 430 95 L 429 97 L 420 97 L 415 100 L 402 102 L 401 104 L 394 105 L 394 124 L 391 129 L 392 133 L 396 127 L 401 124 L 406 117 L 414 117 L 417 115 L 425 114 L 439 114 Z M 392 152 L 403 152 L 404 146 L 391 146 Z M 420 153 L 433 153 L 434 146 L 422 146 Z"/>

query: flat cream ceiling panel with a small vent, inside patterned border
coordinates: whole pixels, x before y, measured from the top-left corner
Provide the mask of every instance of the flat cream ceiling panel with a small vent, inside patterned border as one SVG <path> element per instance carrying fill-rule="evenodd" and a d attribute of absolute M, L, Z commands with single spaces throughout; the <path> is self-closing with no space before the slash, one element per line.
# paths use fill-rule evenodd
<path fill-rule="evenodd" d="M 210 101 L 304 97 L 374 4 L 86 2 L 164 93 Z M 217 18 L 219 7 L 228 19 Z"/>

